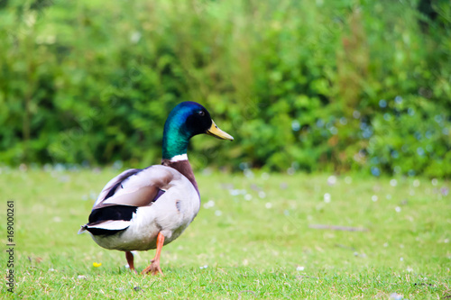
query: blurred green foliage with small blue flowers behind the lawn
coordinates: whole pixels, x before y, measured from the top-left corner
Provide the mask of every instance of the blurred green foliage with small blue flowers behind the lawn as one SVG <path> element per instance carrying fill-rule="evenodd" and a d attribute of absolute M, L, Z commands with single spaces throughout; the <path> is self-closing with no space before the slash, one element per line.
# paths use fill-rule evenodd
<path fill-rule="evenodd" d="M 0 161 L 451 176 L 449 1 L 0 1 Z"/>

